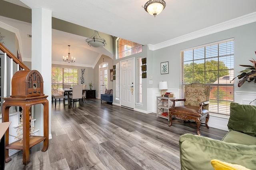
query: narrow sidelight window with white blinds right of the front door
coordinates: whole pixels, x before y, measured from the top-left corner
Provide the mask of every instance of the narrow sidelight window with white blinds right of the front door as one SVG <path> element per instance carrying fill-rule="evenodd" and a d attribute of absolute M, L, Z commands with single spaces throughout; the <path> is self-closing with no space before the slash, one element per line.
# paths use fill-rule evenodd
<path fill-rule="evenodd" d="M 142 104 L 142 71 L 141 71 L 142 61 L 141 58 L 137 59 L 137 98 L 136 103 Z"/>

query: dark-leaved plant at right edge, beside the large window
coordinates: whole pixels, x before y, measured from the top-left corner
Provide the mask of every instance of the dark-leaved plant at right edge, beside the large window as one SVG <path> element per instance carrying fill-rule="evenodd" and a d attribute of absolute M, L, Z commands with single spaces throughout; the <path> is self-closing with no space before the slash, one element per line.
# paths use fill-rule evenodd
<path fill-rule="evenodd" d="M 255 51 L 255 54 L 256 54 L 256 51 Z M 240 65 L 242 67 L 247 67 L 247 68 L 240 71 L 241 74 L 236 76 L 238 77 L 238 79 L 241 79 L 238 82 L 238 87 L 241 87 L 246 81 L 248 82 L 254 81 L 254 83 L 256 83 L 256 61 L 254 59 L 249 61 L 251 61 L 253 65 Z M 234 79 L 236 77 L 234 77 Z M 234 79 L 232 79 L 231 81 L 233 81 Z"/>

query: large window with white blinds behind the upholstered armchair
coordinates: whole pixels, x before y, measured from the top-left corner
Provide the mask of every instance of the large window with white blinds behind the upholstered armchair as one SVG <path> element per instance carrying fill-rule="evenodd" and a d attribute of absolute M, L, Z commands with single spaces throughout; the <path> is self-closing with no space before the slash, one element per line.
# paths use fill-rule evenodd
<path fill-rule="evenodd" d="M 229 115 L 234 101 L 234 39 L 184 49 L 181 61 L 180 96 L 187 84 L 210 85 L 210 113 Z"/>

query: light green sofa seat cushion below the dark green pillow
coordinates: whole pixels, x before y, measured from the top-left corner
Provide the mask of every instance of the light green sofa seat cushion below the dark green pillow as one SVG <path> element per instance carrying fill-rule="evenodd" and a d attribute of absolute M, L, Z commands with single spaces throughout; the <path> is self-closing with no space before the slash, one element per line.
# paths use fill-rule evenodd
<path fill-rule="evenodd" d="M 237 132 L 235 130 L 229 131 L 224 138 L 222 139 L 224 142 L 228 143 L 238 143 L 245 145 L 256 145 L 256 138 L 254 136 L 250 136 L 248 134 Z"/>

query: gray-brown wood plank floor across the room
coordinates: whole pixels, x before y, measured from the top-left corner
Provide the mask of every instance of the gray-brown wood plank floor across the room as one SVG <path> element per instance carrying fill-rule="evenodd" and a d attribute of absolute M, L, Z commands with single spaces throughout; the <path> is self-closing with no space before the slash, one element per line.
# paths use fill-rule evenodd
<path fill-rule="evenodd" d="M 52 105 L 52 139 L 30 149 L 28 165 L 22 151 L 14 154 L 5 170 L 179 170 L 179 136 L 196 134 L 189 123 L 156 118 L 116 105 L 86 99 L 82 107 Z M 226 131 L 201 126 L 201 135 L 222 139 Z"/>

